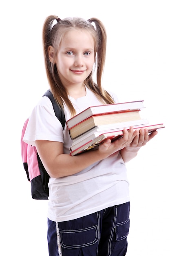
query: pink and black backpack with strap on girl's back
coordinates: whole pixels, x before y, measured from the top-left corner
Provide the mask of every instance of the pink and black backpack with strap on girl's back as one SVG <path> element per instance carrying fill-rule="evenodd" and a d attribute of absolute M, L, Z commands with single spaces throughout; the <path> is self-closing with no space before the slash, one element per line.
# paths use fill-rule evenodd
<path fill-rule="evenodd" d="M 64 129 L 66 124 L 64 111 L 58 106 L 55 101 L 53 94 L 50 90 L 47 90 L 43 97 L 48 97 L 52 104 L 55 112 L 55 116 L 59 119 Z M 31 195 L 33 199 L 37 200 L 48 200 L 49 196 L 49 174 L 46 172 L 42 161 L 37 153 L 36 147 L 31 146 L 23 141 L 26 126 L 29 118 L 26 119 L 22 128 L 21 135 L 21 157 L 26 171 L 27 179 L 31 182 Z"/>

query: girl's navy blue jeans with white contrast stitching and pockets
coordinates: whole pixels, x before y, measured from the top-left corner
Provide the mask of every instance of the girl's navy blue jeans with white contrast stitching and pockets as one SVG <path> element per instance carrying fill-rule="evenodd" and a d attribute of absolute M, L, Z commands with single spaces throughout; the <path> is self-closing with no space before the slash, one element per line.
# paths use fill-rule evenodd
<path fill-rule="evenodd" d="M 48 219 L 49 256 L 125 256 L 129 212 L 127 202 L 75 220 Z"/>

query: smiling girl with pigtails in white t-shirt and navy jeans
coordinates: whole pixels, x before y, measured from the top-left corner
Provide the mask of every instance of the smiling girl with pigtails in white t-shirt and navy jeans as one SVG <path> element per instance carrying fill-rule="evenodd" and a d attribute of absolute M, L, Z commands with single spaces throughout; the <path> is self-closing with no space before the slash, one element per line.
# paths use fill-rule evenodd
<path fill-rule="evenodd" d="M 43 47 L 50 90 L 66 120 L 89 106 L 117 103 L 116 95 L 101 84 L 106 31 L 100 20 L 49 16 L 43 27 Z M 130 202 L 125 163 L 156 134 L 130 127 L 121 139 L 113 143 L 108 139 L 97 150 L 72 157 L 66 126 L 62 130 L 51 101 L 40 99 L 24 141 L 36 146 L 50 175 L 50 256 L 126 254 Z"/>

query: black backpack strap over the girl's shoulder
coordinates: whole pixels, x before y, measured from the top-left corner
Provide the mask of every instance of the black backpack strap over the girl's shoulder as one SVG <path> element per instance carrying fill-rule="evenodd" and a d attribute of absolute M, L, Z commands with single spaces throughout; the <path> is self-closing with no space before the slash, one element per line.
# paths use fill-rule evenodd
<path fill-rule="evenodd" d="M 47 90 L 43 96 L 48 97 L 53 105 L 53 109 L 55 112 L 55 116 L 58 118 L 58 120 L 60 121 L 60 123 L 62 124 L 62 128 L 64 130 L 65 124 L 66 124 L 66 119 L 65 119 L 65 115 L 64 115 L 64 111 L 60 108 L 60 106 L 58 106 L 57 102 L 55 101 L 53 94 L 50 90 Z"/>

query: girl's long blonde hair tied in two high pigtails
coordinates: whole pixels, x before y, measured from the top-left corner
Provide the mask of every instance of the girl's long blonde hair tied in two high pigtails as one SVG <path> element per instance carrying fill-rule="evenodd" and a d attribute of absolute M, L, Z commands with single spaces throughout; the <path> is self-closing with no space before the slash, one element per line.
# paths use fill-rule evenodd
<path fill-rule="evenodd" d="M 55 25 L 54 25 L 55 22 Z M 94 22 L 95 27 L 91 24 Z M 96 68 L 96 81 L 93 81 L 93 71 L 84 81 L 85 85 L 92 90 L 99 100 L 103 103 L 114 103 L 110 94 L 102 88 L 102 74 L 104 70 L 105 58 L 106 58 L 106 30 L 104 25 L 97 18 L 91 18 L 84 20 L 82 18 L 65 18 L 61 20 L 57 16 L 48 16 L 43 26 L 43 49 L 44 49 L 44 61 L 46 67 L 46 74 L 50 85 L 50 90 L 57 103 L 63 108 L 65 102 L 68 106 L 71 115 L 75 115 L 75 109 L 68 99 L 68 94 L 64 88 L 60 77 L 57 72 L 56 65 L 49 60 L 49 46 L 54 49 L 54 56 L 57 55 L 58 49 L 62 42 L 62 38 L 68 30 L 71 28 L 84 29 L 91 33 L 95 42 L 95 68 Z"/>

